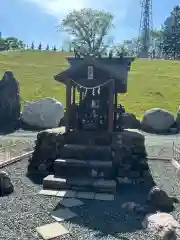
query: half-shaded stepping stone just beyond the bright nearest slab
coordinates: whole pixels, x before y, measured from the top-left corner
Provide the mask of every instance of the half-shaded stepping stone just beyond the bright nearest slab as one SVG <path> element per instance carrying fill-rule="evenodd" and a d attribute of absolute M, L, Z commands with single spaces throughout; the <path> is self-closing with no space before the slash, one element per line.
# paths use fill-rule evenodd
<path fill-rule="evenodd" d="M 77 214 L 75 214 L 74 212 L 72 212 L 71 210 L 69 210 L 68 208 L 64 208 L 64 209 L 58 209 L 55 211 L 51 212 L 51 216 L 52 218 L 54 218 L 56 221 L 58 222 L 62 222 L 64 220 L 68 220 L 74 217 L 77 217 Z"/>

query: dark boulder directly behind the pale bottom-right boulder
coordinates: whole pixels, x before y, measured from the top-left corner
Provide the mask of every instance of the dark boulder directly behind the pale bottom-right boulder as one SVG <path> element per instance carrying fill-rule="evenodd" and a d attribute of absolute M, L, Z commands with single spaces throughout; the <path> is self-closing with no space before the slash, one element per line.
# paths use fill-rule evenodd
<path fill-rule="evenodd" d="M 174 203 L 179 203 L 178 199 L 169 197 L 165 191 L 157 186 L 150 190 L 147 201 L 152 209 L 167 212 L 173 210 Z"/>

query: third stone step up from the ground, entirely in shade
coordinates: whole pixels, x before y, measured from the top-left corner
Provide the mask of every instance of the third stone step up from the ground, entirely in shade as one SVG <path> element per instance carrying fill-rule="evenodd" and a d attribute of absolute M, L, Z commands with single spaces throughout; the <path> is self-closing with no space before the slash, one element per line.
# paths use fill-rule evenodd
<path fill-rule="evenodd" d="M 66 144 L 60 152 L 61 158 L 79 160 L 98 159 L 108 161 L 111 159 L 111 148 L 100 145 Z"/>

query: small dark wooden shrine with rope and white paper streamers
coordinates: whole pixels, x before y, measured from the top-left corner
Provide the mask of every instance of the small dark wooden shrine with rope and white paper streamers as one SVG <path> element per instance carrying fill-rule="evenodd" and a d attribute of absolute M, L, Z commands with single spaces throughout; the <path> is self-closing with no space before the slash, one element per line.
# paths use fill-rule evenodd
<path fill-rule="evenodd" d="M 118 93 L 127 92 L 132 57 L 69 57 L 70 67 L 57 74 L 66 86 L 66 131 L 116 131 L 121 105 Z"/>

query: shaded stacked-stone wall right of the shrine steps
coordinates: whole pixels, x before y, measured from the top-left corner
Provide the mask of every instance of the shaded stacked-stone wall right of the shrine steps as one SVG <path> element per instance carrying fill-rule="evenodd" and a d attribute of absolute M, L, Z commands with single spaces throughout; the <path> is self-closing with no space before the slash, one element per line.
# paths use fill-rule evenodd
<path fill-rule="evenodd" d="M 113 133 L 112 161 L 121 182 L 126 178 L 133 182 L 139 182 L 140 179 L 146 181 L 146 176 L 151 175 L 146 157 L 142 134 L 130 130 Z"/>

